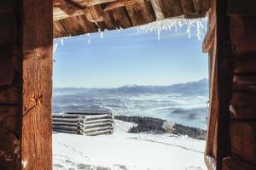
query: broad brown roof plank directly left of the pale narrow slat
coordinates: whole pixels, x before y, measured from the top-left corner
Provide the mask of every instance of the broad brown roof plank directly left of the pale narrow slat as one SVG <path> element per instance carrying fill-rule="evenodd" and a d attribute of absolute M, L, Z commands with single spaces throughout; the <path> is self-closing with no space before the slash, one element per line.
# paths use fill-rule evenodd
<path fill-rule="evenodd" d="M 150 2 L 134 3 L 125 7 L 133 26 L 148 24 L 155 20 Z"/>

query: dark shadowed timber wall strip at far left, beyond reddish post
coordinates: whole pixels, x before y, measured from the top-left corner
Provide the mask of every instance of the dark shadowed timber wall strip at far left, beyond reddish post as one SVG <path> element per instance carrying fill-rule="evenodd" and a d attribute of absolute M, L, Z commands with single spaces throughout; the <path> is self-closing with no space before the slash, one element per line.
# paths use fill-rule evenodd
<path fill-rule="evenodd" d="M 19 4 L 13 0 L 0 2 L 0 169 L 4 170 L 20 169 L 20 105 L 15 103 L 21 90 L 10 90 L 20 83 L 16 77 L 20 71 L 15 75 L 15 69 L 20 68 L 16 62 L 21 58 L 16 51 Z"/>

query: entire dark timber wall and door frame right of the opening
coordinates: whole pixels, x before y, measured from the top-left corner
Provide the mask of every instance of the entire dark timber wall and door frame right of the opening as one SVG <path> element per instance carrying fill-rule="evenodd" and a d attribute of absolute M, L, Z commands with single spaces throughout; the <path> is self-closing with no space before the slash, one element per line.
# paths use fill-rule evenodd
<path fill-rule="evenodd" d="M 211 11 L 215 8 L 216 12 L 210 11 L 203 45 L 209 53 L 212 73 L 207 167 L 212 169 L 208 161 L 211 157 L 218 170 L 253 170 L 256 169 L 255 1 L 212 0 L 211 6 Z"/>

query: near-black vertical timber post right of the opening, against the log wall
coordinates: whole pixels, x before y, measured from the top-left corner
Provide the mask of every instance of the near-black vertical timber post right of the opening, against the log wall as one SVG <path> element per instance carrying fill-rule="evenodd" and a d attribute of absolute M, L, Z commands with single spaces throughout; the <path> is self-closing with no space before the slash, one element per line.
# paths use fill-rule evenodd
<path fill-rule="evenodd" d="M 217 132 L 217 169 L 222 169 L 222 160 L 230 156 L 230 111 L 233 82 L 233 52 L 230 40 L 230 24 L 226 2 L 216 0 L 216 42 L 218 74 L 218 132 Z"/>

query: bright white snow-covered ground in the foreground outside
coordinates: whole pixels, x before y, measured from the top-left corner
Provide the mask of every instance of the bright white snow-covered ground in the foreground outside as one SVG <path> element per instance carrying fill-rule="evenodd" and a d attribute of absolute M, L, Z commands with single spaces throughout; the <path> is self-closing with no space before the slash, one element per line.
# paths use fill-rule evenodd
<path fill-rule="evenodd" d="M 135 125 L 115 121 L 112 135 L 53 134 L 55 170 L 202 170 L 205 141 L 186 136 L 127 133 Z"/>

